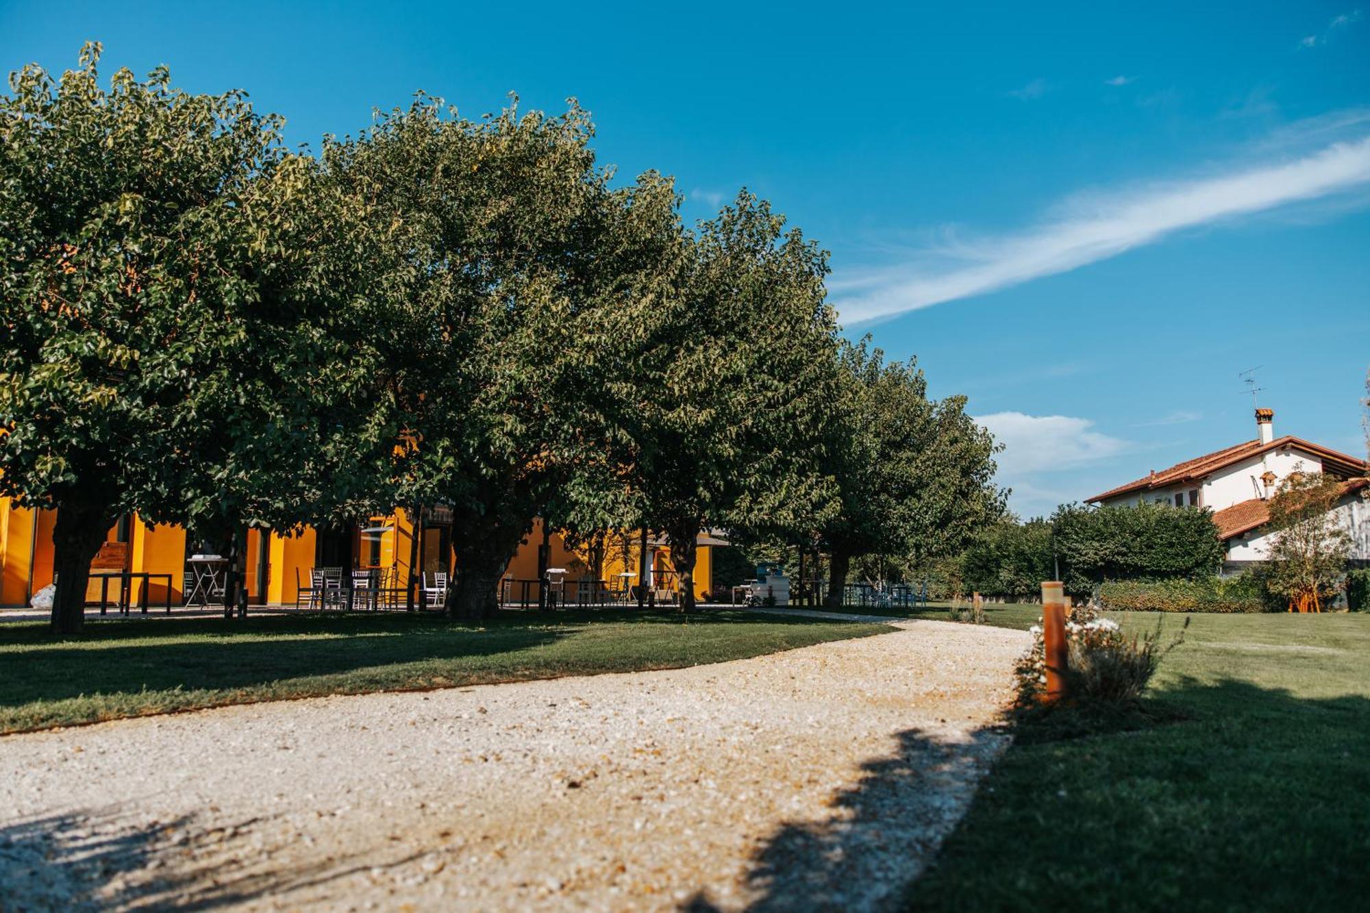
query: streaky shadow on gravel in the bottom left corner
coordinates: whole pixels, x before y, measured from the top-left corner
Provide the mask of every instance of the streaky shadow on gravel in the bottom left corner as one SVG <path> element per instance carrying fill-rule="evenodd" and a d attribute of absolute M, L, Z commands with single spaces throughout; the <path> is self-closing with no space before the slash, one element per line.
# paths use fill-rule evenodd
<path fill-rule="evenodd" d="M 382 861 L 344 854 L 326 866 L 271 865 L 251 842 L 260 818 L 206 827 L 193 816 L 145 823 L 118 810 L 68 813 L 0 827 L 3 909 L 210 910 L 323 884 Z"/>

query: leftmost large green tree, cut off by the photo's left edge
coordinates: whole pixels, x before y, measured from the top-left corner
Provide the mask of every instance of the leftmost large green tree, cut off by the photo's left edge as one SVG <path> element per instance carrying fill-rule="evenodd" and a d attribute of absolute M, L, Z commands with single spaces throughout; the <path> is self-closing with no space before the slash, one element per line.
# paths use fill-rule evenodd
<path fill-rule="evenodd" d="M 237 540 L 356 491 L 377 440 L 341 303 L 366 237 L 241 92 L 189 95 L 100 47 L 0 96 L 0 489 L 58 510 L 53 625 L 84 618 L 123 513 Z M 362 380 L 359 380 L 362 378 Z M 347 403 L 352 411 L 332 410 Z"/>

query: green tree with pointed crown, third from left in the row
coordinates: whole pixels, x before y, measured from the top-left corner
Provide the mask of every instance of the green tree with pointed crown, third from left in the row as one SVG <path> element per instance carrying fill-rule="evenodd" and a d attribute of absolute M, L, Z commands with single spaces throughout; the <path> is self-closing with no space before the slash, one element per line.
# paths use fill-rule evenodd
<path fill-rule="evenodd" d="M 751 193 L 686 248 L 644 314 L 615 425 L 640 522 L 664 535 L 689 610 L 701 531 L 788 533 L 830 509 L 812 450 L 836 404 L 836 324 L 826 254 Z"/>

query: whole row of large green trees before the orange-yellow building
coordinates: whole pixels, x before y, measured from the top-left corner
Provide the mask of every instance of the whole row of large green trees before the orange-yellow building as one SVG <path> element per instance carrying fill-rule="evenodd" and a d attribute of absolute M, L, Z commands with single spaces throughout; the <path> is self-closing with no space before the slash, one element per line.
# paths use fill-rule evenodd
<path fill-rule="evenodd" d="M 421 95 L 290 154 L 242 93 L 103 89 L 99 52 L 0 97 L 0 492 L 59 511 L 59 629 L 133 511 L 232 548 L 451 504 L 467 617 L 536 515 L 663 533 L 689 607 L 701 529 L 827 548 L 840 594 L 1001 513 L 964 402 L 841 340 L 822 249 L 747 192 L 686 229 L 574 101 Z"/>

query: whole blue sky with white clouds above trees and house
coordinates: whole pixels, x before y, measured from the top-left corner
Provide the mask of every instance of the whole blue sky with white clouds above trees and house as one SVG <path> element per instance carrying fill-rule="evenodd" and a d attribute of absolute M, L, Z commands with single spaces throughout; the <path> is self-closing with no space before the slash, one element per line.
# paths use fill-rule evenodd
<path fill-rule="evenodd" d="M 96 38 L 314 144 L 415 89 L 577 96 L 686 218 L 745 185 L 829 248 L 848 332 L 970 398 L 1023 514 L 1254 437 L 1258 365 L 1275 433 L 1365 450 L 1370 0 L 227 5 L 0 0 L 0 66 Z"/>

